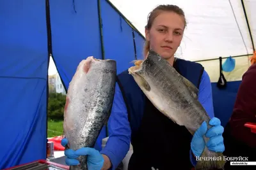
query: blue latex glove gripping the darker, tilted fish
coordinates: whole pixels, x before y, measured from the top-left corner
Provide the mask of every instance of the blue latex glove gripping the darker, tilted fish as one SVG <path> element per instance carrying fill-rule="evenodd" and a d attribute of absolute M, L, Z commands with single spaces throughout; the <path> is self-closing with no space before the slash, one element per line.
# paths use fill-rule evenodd
<path fill-rule="evenodd" d="M 206 144 L 209 150 L 212 152 L 224 152 L 225 150 L 222 137 L 224 128 L 221 126 L 220 119 L 214 117 L 210 120 L 209 124 L 212 125 L 212 127 L 207 131 L 207 124 L 206 122 L 203 122 L 192 138 L 191 150 L 196 157 L 200 157 L 204 151 L 204 135 L 209 138 L 209 141 Z"/>

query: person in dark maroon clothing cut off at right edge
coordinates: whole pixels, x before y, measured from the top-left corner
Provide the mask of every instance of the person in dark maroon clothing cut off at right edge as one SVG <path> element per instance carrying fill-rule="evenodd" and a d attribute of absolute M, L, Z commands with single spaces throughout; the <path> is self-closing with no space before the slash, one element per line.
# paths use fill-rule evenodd
<path fill-rule="evenodd" d="M 256 64 L 252 60 L 252 66 L 243 74 L 233 113 L 223 133 L 227 157 L 247 157 L 247 161 L 256 161 L 256 134 L 249 127 L 244 126 L 247 122 L 256 123 L 255 77 Z M 234 169 L 234 166 L 226 164 L 225 169 Z M 252 166 L 252 169 L 255 167 Z"/>

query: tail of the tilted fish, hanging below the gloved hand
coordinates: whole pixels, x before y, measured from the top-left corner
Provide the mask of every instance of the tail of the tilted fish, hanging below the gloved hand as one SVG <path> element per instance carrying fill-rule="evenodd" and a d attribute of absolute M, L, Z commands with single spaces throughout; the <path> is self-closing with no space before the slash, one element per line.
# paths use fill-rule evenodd
<path fill-rule="evenodd" d="M 220 152 L 211 152 L 207 147 L 204 148 L 204 152 L 198 158 L 196 163 L 196 170 L 215 170 L 223 169 L 225 166 L 224 155 Z"/>

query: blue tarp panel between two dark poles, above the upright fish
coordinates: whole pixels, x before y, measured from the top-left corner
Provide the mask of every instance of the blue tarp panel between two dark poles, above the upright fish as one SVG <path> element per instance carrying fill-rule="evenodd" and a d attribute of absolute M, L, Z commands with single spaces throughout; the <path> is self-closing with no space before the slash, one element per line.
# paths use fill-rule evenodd
<path fill-rule="evenodd" d="M 50 1 L 52 57 L 66 89 L 81 60 L 102 59 L 97 1 L 74 2 Z"/>

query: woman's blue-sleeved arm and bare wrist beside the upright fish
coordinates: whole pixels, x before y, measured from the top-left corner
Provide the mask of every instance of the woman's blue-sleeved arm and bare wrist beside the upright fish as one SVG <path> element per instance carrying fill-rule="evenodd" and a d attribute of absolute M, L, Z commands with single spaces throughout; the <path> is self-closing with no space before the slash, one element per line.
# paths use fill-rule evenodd
<path fill-rule="evenodd" d="M 102 170 L 116 169 L 130 148 L 131 127 L 124 98 L 117 83 L 112 111 L 108 120 L 108 130 L 108 141 L 100 152 L 104 157 Z"/>

